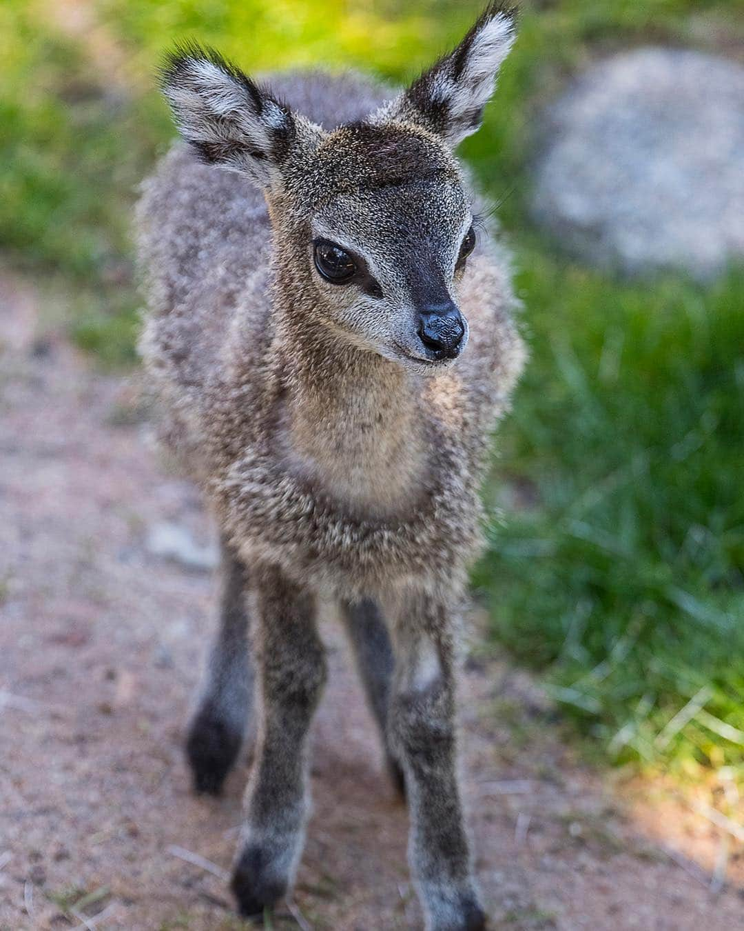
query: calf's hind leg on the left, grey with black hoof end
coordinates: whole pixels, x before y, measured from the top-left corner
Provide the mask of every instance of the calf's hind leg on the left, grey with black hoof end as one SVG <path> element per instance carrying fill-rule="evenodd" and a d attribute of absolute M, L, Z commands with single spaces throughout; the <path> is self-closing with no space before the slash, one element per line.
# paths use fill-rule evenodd
<path fill-rule="evenodd" d="M 254 680 L 248 646 L 247 573 L 224 541 L 219 574 L 219 631 L 186 743 L 194 789 L 214 795 L 221 791 L 240 752 L 253 706 Z"/>

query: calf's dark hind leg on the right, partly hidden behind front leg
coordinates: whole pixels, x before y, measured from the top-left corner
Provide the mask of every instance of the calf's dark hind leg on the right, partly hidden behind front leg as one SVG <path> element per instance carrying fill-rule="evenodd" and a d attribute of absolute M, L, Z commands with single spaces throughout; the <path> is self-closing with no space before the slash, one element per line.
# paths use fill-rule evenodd
<path fill-rule="evenodd" d="M 385 745 L 388 769 L 401 795 L 405 795 L 405 780 L 401 764 L 395 759 L 388 739 L 388 711 L 395 658 L 385 618 L 377 601 L 344 601 L 341 611 L 356 657 L 356 665 L 365 685 L 369 708 L 379 725 Z"/>

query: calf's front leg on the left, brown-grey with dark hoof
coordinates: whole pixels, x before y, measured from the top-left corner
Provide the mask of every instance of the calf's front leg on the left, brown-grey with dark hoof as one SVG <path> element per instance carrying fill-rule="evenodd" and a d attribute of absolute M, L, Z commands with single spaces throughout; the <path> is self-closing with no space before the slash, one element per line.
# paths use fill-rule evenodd
<path fill-rule="evenodd" d="M 314 598 L 275 570 L 258 580 L 261 718 L 247 815 L 233 867 L 243 915 L 259 915 L 291 886 L 309 807 L 307 734 L 326 681 Z"/>

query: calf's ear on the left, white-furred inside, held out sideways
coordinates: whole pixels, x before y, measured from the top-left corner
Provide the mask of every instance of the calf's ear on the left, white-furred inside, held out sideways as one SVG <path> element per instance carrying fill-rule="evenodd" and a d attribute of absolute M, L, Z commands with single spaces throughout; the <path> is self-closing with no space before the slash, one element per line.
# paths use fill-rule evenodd
<path fill-rule="evenodd" d="M 181 136 L 206 162 L 243 172 L 261 187 L 281 181 L 297 119 L 268 90 L 214 49 L 196 45 L 166 58 L 161 87 Z"/>

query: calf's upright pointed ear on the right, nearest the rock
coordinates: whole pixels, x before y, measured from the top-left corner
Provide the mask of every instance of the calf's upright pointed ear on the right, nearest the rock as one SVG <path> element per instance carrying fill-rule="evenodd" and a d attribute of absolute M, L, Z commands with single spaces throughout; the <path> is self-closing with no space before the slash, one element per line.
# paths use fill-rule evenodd
<path fill-rule="evenodd" d="M 498 69 L 515 37 L 516 9 L 489 4 L 454 51 L 421 74 L 372 120 L 418 123 L 456 146 L 480 128 Z"/>

